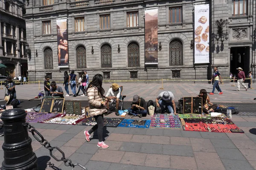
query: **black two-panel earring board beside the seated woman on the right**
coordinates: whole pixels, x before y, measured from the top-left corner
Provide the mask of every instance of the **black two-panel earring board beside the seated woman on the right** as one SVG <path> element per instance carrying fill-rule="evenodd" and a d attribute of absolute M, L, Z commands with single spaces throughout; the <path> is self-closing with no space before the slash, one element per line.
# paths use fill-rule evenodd
<path fill-rule="evenodd" d="M 183 114 L 186 113 L 203 113 L 203 98 L 202 97 L 183 97 Z"/>

